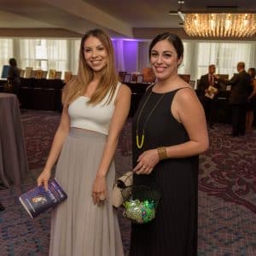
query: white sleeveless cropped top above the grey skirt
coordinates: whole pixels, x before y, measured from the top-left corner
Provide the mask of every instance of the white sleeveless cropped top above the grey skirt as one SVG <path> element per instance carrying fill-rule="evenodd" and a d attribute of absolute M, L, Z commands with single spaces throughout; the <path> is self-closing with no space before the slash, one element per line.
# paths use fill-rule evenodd
<path fill-rule="evenodd" d="M 102 102 L 96 105 L 87 104 L 90 101 L 90 97 L 87 96 L 79 96 L 73 101 L 68 106 L 70 127 L 97 131 L 108 135 L 109 124 L 113 116 L 114 101 L 120 85 L 121 83 L 117 84 L 117 88 L 109 104 L 105 104 L 108 102 L 109 92 Z"/>

